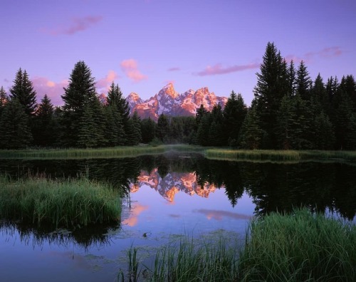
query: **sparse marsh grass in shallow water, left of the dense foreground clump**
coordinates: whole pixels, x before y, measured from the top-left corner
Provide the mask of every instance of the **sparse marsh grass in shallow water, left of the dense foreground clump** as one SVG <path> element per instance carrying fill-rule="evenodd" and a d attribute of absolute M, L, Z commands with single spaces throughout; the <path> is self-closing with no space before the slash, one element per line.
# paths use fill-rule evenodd
<path fill-rule="evenodd" d="M 127 257 L 127 281 L 234 281 L 239 254 L 236 246 L 226 244 L 223 238 L 206 241 L 184 237 L 159 249 L 153 266 L 137 261 L 137 249 L 133 248 Z M 125 281 L 122 271 L 119 281 Z"/>

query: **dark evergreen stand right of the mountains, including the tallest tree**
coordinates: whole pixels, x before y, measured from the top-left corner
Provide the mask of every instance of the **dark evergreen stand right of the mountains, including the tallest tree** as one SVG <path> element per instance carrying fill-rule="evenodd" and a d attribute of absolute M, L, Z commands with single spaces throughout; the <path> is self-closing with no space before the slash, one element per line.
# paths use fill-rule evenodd
<path fill-rule="evenodd" d="M 224 110 L 197 111 L 197 144 L 243 149 L 355 150 L 356 83 L 352 75 L 311 80 L 268 43 L 251 107 L 231 93 Z"/>

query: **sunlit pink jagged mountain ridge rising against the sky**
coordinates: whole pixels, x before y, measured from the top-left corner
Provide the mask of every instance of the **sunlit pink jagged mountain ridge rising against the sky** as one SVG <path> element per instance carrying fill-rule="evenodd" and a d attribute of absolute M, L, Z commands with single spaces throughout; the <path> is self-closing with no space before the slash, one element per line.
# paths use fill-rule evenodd
<path fill-rule="evenodd" d="M 220 104 L 224 108 L 227 102 L 226 97 L 216 96 L 206 87 L 197 91 L 189 89 L 179 94 L 174 90 L 172 83 L 168 83 L 148 100 L 142 100 L 137 93 L 130 93 L 126 100 L 131 113 L 136 111 L 141 118 L 151 117 L 156 121 L 162 113 L 171 116 L 195 115 L 200 105 L 204 105 L 204 108 L 210 111 L 215 104 Z"/>

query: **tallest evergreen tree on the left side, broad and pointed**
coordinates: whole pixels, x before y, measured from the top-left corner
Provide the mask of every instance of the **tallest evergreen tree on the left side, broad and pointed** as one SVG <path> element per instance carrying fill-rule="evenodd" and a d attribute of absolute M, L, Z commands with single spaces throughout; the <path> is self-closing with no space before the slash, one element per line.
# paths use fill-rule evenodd
<path fill-rule="evenodd" d="M 64 101 L 61 143 L 64 146 L 95 147 L 103 141 L 103 124 L 98 124 L 102 113 L 99 110 L 100 102 L 95 94 L 94 81 L 90 68 L 83 61 L 75 63 L 68 88 L 64 88 L 65 94 L 61 96 Z M 90 120 L 85 121 L 85 118 Z M 80 128 L 83 126 L 84 129 Z M 89 140 L 90 133 L 93 133 L 93 140 Z M 84 140 L 88 140 L 88 144 L 84 144 Z"/>

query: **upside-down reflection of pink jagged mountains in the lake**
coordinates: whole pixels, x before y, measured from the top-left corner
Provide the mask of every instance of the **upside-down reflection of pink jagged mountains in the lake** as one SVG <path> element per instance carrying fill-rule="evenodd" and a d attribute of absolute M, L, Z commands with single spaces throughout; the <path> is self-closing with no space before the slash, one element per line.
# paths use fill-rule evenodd
<path fill-rule="evenodd" d="M 171 172 L 162 178 L 157 168 L 153 169 L 151 173 L 142 171 L 137 178 L 137 182 L 130 184 L 130 192 L 137 192 L 145 185 L 155 189 L 169 202 L 174 202 L 174 196 L 178 192 L 184 192 L 191 196 L 197 194 L 200 197 L 207 198 L 210 193 L 214 193 L 217 189 L 214 184 L 208 183 L 201 187 L 197 183 L 197 175 L 194 172 Z"/>

